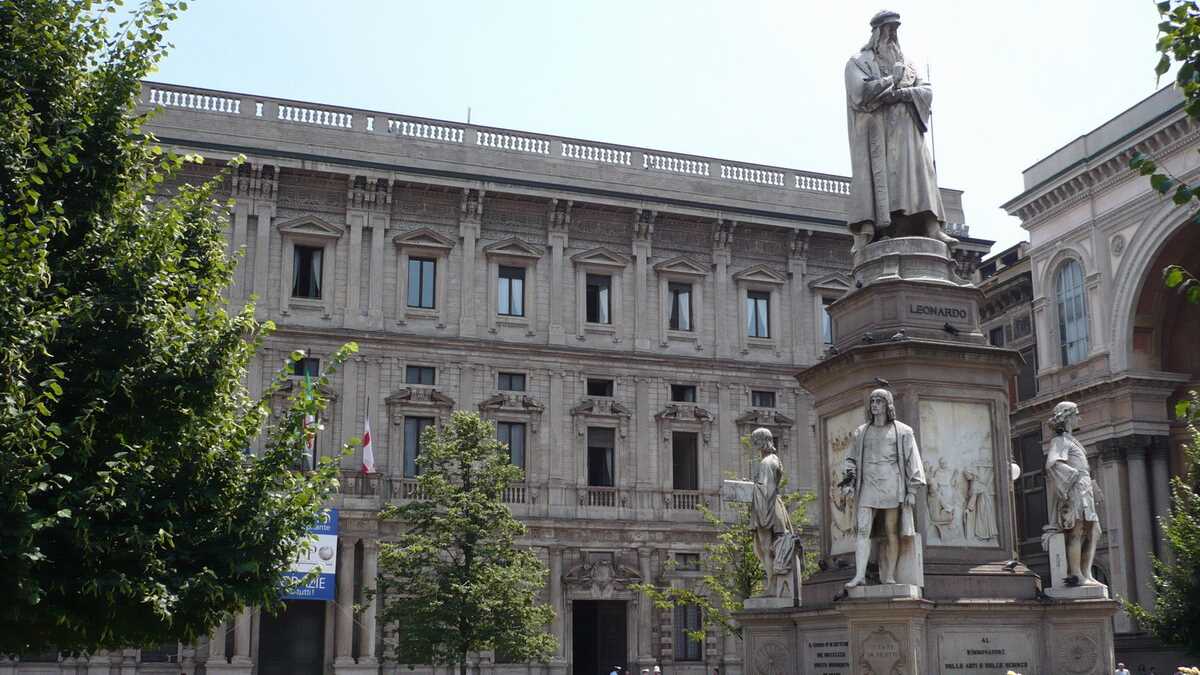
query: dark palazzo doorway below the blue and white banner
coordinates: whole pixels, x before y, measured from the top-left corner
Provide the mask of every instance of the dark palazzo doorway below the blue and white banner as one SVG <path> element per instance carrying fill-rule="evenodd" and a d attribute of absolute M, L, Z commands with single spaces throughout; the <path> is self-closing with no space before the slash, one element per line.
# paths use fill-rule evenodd
<path fill-rule="evenodd" d="M 287 601 L 276 616 L 262 615 L 258 675 L 323 675 L 325 603 Z"/>

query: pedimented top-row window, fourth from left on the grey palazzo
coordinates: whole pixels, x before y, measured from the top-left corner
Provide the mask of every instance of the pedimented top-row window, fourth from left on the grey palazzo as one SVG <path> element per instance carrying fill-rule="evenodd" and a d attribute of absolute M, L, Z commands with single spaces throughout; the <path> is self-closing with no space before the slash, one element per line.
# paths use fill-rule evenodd
<path fill-rule="evenodd" d="M 575 265 L 576 331 L 608 334 L 619 342 L 623 313 L 623 283 L 629 257 L 598 246 L 571 256 Z"/>

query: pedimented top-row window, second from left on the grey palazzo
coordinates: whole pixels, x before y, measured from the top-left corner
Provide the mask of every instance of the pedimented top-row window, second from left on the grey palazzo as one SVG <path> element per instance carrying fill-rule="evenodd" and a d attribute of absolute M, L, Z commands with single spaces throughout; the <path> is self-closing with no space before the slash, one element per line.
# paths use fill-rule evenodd
<path fill-rule="evenodd" d="M 446 273 L 455 240 L 440 232 L 421 227 L 392 238 L 400 252 L 396 322 L 431 319 L 445 324 Z"/>

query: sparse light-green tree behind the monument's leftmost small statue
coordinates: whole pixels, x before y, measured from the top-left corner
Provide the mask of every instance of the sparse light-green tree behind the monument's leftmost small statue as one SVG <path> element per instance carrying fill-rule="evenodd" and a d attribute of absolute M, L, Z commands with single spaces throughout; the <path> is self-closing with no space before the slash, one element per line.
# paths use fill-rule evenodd
<path fill-rule="evenodd" d="M 742 438 L 745 459 L 755 453 L 750 449 L 749 437 Z M 786 486 L 786 480 L 782 486 Z M 781 490 L 782 491 L 782 490 Z M 784 494 L 784 503 L 791 515 L 792 525 L 799 527 L 808 520 L 806 508 L 814 496 L 811 494 Z M 742 627 L 733 614 L 742 611 L 744 601 L 762 592 L 766 573 L 762 563 L 754 554 L 754 531 L 750 528 L 750 504 L 732 503 L 732 520 L 725 520 L 720 514 L 701 504 L 700 512 L 704 521 L 715 531 L 715 539 L 704 545 L 701 556 L 703 575 L 695 586 L 655 586 L 647 581 L 634 585 L 659 609 L 696 605 L 701 611 L 701 628 L 689 635 L 702 640 L 708 631 L 720 631 L 742 637 Z M 799 533 L 797 531 L 797 533 Z M 816 569 L 816 551 L 804 554 L 802 577 L 810 575 Z M 667 563 L 668 568 L 673 561 Z"/>

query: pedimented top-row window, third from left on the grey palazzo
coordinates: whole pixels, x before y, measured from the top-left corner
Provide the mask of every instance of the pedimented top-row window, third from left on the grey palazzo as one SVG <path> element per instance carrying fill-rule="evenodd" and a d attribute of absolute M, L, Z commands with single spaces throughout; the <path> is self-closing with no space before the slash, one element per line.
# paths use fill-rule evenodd
<path fill-rule="evenodd" d="M 517 237 L 484 246 L 487 258 L 487 329 L 515 325 L 533 335 L 538 325 L 538 263 L 544 250 Z"/>

